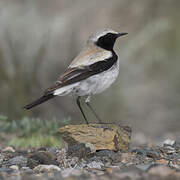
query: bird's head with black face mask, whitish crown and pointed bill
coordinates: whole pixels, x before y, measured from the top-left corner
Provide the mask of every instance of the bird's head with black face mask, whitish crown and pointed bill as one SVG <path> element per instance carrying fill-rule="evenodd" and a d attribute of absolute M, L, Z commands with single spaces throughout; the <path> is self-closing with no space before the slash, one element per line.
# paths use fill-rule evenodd
<path fill-rule="evenodd" d="M 88 43 L 94 43 L 95 45 L 106 50 L 113 50 L 116 39 L 126 34 L 128 33 L 126 32 L 118 33 L 111 29 L 105 29 L 92 34 L 89 37 Z"/>

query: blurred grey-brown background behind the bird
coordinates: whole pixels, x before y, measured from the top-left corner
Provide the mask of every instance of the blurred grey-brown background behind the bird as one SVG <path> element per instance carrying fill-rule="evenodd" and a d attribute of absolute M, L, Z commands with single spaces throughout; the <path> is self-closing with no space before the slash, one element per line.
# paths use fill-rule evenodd
<path fill-rule="evenodd" d="M 129 33 L 115 45 L 120 76 L 92 105 L 105 122 L 130 125 L 136 135 L 178 134 L 179 8 L 179 0 L 0 0 L 1 116 L 84 123 L 69 97 L 28 112 L 22 106 L 52 85 L 92 32 L 111 28 Z"/>

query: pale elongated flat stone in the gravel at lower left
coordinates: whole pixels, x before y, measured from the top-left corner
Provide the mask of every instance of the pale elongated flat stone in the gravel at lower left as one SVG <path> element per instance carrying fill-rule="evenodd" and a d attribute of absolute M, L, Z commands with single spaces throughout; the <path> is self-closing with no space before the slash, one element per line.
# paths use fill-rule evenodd
<path fill-rule="evenodd" d="M 56 165 L 38 165 L 33 169 L 36 173 L 51 173 L 61 171 L 61 169 Z"/>

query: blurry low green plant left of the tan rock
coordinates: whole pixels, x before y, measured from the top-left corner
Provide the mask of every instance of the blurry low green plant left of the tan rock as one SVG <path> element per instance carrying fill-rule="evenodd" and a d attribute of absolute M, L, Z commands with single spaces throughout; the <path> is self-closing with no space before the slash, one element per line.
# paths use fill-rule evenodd
<path fill-rule="evenodd" d="M 59 127 L 60 123 L 56 119 L 42 120 L 24 117 L 21 120 L 10 121 L 6 116 L 0 115 L 0 133 L 7 134 L 6 145 L 15 147 L 60 147 Z"/>

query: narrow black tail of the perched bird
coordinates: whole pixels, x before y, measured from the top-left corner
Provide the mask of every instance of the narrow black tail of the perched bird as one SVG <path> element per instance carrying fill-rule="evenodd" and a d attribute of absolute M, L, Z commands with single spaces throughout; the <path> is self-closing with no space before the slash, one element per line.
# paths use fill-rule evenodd
<path fill-rule="evenodd" d="M 24 109 L 31 109 L 35 106 L 38 106 L 39 104 L 51 99 L 51 98 L 54 98 L 55 96 L 53 94 L 47 94 L 47 95 L 43 95 L 41 96 L 39 99 L 33 101 L 32 103 L 30 104 L 27 104 L 26 106 L 24 106 L 23 108 Z"/>

